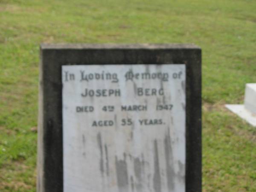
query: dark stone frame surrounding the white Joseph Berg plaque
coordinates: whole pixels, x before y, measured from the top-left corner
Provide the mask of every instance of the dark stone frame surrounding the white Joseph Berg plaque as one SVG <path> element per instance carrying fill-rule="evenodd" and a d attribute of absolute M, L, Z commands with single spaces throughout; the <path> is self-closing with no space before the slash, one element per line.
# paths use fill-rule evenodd
<path fill-rule="evenodd" d="M 186 64 L 186 192 L 201 192 L 201 48 L 192 44 L 41 44 L 38 192 L 63 192 L 61 66 Z"/>

